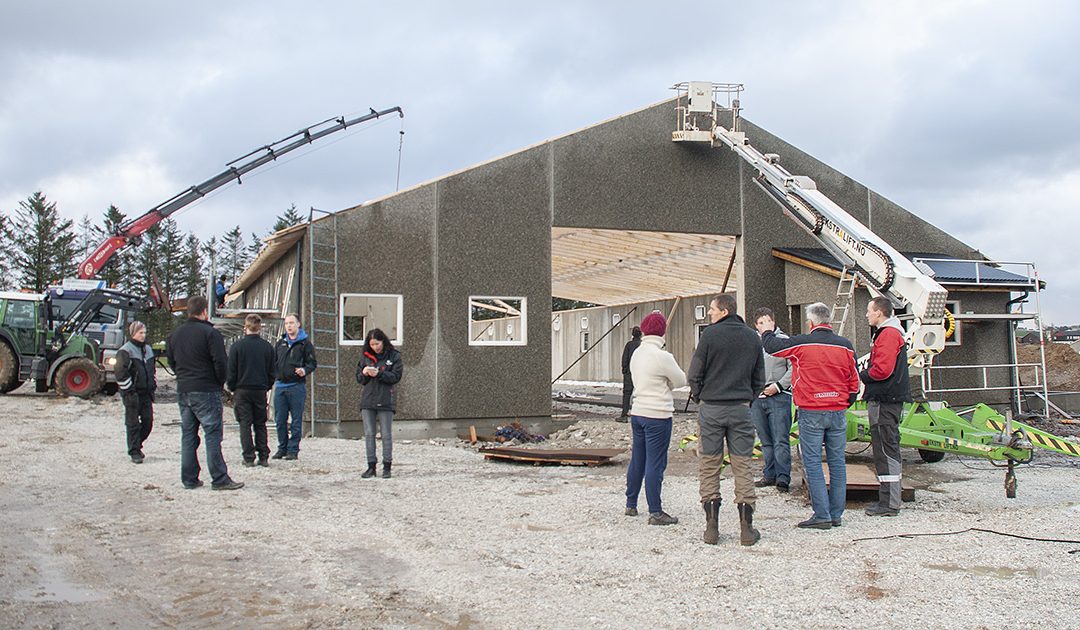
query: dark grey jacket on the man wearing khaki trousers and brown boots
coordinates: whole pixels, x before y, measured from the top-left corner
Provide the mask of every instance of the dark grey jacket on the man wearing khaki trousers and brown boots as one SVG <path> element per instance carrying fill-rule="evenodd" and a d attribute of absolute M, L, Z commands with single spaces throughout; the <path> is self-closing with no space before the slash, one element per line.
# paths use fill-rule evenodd
<path fill-rule="evenodd" d="M 753 402 L 765 389 L 761 339 L 737 314 L 705 327 L 687 380 L 693 400 L 713 404 Z"/>

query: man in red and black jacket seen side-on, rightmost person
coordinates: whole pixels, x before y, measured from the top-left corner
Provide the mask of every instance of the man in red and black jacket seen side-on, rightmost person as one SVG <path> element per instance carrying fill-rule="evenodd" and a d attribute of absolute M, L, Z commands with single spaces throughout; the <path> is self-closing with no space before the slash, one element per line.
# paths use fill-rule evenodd
<path fill-rule="evenodd" d="M 866 385 L 863 400 L 870 423 L 870 446 L 878 473 L 878 502 L 866 508 L 869 517 L 900 513 L 900 419 L 904 403 L 912 402 L 907 376 L 907 344 L 892 303 L 875 297 L 866 305 L 874 346 L 869 364 L 859 374 Z"/>

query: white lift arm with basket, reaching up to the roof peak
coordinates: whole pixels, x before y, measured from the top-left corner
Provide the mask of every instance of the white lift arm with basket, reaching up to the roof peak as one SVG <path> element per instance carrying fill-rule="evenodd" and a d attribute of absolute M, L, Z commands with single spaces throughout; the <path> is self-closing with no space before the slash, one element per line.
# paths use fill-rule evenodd
<path fill-rule="evenodd" d="M 813 179 L 793 175 L 780 165 L 775 153 L 762 153 L 739 131 L 739 99 L 727 109 L 731 129 L 718 122 L 718 91 L 742 91 L 741 84 L 690 82 L 676 85 L 687 91 L 688 102 L 676 142 L 710 142 L 726 146 L 756 171 L 754 182 L 784 209 L 785 214 L 806 229 L 836 259 L 854 272 L 875 295 L 889 298 L 897 308 L 910 307 L 907 344 L 913 366 L 921 367 L 945 347 L 945 300 L 948 293 L 927 271 L 897 252 L 836 202 L 818 190 Z M 704 100 L 707 99 L 707 104 Z M 700 115 L 700 116 L 696 116 Z M 698 120 L 708 124 L 701 129 Z"/>

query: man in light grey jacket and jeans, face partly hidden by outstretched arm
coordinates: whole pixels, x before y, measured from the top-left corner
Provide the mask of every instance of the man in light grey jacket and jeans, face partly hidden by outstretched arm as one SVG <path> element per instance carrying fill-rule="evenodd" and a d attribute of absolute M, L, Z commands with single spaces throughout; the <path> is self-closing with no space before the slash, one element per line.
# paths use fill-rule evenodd
<path fill-rule="evenodd" d="M 787 335 L 775 325 L 772 309 L 759 308 L 754 312 L 754 327 L 759 335 L 774 330 L 778 338 L 786 339 Z M 775 485 L 780 492 L 787 492 L 792 481 L 792 363 L 766 352 L 765 383 L 765 389 L 750 407 L 765 459 L 761 479 L 754 485 Z"/>

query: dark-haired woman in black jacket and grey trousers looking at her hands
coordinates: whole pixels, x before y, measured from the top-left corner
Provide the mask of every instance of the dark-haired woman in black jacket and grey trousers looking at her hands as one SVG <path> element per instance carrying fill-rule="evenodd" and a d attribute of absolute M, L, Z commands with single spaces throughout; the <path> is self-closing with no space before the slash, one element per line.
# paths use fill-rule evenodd
<path fill-rule="evenodd" d="M 393 460 L 394 411 L 397 407 L 395 386 L 402 379 L 405 366 L 402 356 L 393 344 L 379 329 L 373 329 L 364 339 L 364 353 L 356 365 L 356 383 L 364 387 L 360 394 L 360 415 L 364 419 L 364 441 L 367 446 L 367 470 L 361 474 L 368 479 L 375 477 L 375 432 L 382 433 L 382 479 L 390 479 L 390 465 Z"/>

